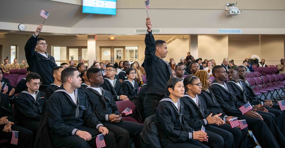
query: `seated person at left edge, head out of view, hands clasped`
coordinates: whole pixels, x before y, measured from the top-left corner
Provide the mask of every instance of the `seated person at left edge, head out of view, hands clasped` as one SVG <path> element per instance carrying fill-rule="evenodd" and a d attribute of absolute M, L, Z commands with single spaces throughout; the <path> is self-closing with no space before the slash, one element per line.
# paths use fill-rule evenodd
<path fill-rule="evenodd" d="M 11 130 L 18 131 L 17 145 L 7 143 L 7 147 L 33 147 L 33 132 L 15 125 L 14 122 L 15 116 L 13 108 L 9 103 L 9 96 L 7 94 L 0 93 L 0 139 L 6 139 L 11 143 L 11 140 L 13 139 L 13 133 Z"/>

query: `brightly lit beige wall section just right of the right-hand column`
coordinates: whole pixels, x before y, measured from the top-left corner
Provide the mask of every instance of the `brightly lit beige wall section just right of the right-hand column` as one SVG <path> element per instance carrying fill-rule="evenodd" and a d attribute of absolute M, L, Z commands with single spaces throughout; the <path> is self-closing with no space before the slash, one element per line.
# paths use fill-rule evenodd
<path fill-rule="evenodd" d="M 214 59 L 220 65 L 228 57 L 228 36 L 198 35 L 198 56 L 203 61 Z"/>

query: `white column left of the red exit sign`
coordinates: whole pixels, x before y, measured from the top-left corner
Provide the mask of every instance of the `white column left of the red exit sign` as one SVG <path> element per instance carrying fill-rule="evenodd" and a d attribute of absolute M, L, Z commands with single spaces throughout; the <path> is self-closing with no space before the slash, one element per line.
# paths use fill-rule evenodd
<path fill-rule="evenodd" d="M 96 59 L 96 36 L 88 35 L 87 39 L 88 67 L 90 67 Z"/>

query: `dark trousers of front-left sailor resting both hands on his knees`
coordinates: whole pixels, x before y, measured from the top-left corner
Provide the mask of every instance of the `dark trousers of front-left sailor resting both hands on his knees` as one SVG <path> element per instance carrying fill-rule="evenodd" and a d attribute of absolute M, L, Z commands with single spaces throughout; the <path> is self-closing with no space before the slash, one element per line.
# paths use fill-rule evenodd
<path fill-rule="evenodd" d="M 92 139 L 89 141 L 85 141 L 83 138 L 80 138 L 76 135 L 69 135 L 69 136 L 60 136 L 57 134 L 51 134 L 51 141 L 54 147 L 66 147 L 66 148 L 89 148 L 96 147 L 96 136 L 102 134 L 96 128 L 91 127 L 82 127 L 79 130 L 87 131 L 92 135 Z M 114 133 L 110 132 L 104 136 L 104 140 L 106 143 L 106 148 L 115 148 L 116 147 L 116 139 Z"/>

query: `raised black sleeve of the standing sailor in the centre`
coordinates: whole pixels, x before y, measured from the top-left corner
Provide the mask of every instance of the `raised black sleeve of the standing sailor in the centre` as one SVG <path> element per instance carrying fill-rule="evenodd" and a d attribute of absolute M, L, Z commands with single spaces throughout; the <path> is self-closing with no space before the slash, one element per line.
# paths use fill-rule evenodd
<path fill-rule="evenodd" d="M 145 66 L 150 66 L 153 64 L 155 59 L 155 39 L 152 35 L 152 32 L 148 32 L 145 35 L 145 59 L 144 64 Z"/>

